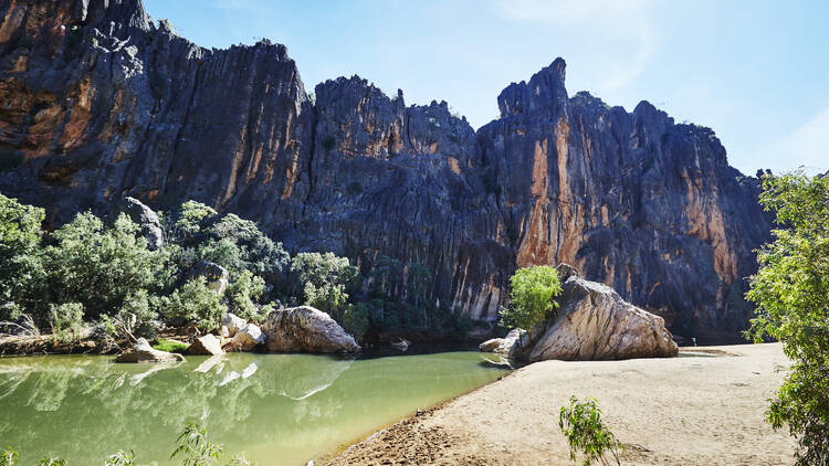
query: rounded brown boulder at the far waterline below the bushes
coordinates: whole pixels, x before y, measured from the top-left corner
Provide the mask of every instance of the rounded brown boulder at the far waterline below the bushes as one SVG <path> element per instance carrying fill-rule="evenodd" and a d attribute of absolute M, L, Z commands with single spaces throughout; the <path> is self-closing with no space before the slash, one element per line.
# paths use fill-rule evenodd
<path fill-rule="evenodd" d="M 263 325 L 270 351 L 356 352 L 360 347 L 327 314 L 309 306 L 277 309 Z"/>

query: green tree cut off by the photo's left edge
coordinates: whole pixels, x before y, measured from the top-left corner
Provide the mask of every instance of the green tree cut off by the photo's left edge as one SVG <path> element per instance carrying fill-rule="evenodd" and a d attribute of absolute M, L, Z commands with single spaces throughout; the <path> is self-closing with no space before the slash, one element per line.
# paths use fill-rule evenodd
<path fill-rule="evenodd" d="M 23 311 L 43 307 L 40 225 L 44 215 L 43 209 L 0 194 L 0 306 L 15 304 Z"/>

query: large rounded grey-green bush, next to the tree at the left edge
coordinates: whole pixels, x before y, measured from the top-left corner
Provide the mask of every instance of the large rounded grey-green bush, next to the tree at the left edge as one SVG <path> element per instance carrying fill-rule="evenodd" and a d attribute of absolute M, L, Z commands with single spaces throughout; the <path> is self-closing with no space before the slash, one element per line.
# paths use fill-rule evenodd
<path fill-rule="evenodd" d="M 94 318 L 116 313 L 135 290 L 165 286 L 167 255 L 150 251 L 138 230 L 125 214 L 104 229 L 91 212 L 56 230 L 45 261 L 55 300 L 81 303 Z"/>

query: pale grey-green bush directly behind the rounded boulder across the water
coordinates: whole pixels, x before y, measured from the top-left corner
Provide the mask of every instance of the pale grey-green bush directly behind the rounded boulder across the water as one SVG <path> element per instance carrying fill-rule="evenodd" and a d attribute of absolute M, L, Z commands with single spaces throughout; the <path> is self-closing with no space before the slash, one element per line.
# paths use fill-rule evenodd
<path fill-rule="evenodd" d="M 334 253 L 300 253 L 291 272 L 302 285 L 302 303 L 332 316 L 343 310 L 348 288 L 356 286 L 359 278 L 357 267 Z"/>

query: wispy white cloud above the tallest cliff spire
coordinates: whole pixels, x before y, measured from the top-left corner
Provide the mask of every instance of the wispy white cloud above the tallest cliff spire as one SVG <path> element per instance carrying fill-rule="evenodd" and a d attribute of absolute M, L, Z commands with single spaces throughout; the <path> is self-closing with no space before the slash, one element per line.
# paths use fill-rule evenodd
<path fill-rule="evenodd" d="M 599 63 L 592 91 L 617 91 L 641 75 L 661 43 L 649 10 L 651 0 L 499 0 L 507 20 L 543 22 L 597 43 Z"/>

